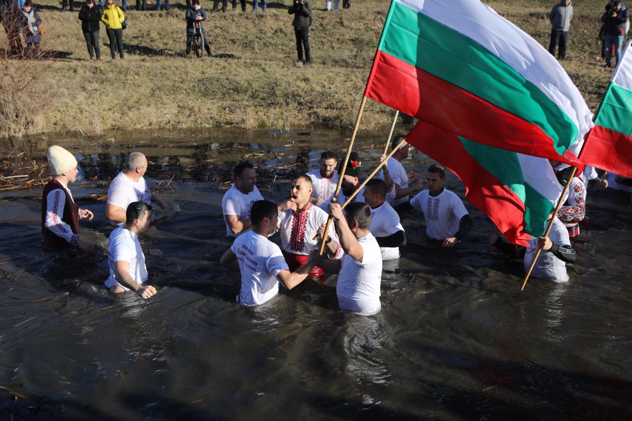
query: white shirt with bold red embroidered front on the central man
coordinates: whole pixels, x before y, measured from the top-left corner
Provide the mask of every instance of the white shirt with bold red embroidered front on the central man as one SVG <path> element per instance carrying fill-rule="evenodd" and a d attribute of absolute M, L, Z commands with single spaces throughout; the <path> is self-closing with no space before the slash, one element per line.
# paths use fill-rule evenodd
<path fill-rule="evenodd" d="M 327 212 L 313 205 L 311 202 L 302 212 L 294 212 L 288 209 L 279 214 L 277 229 L 281 231 L 281 247 L 286 252 L 309 255 L 312 250 L 320 247 L 320 238 L 313 240 L 321 225 L 327 224 Z M 338 235 L 334 229 L 334 224 L 329 225 L 329 233 L 332 241 L 338 243 L 338 250 L 335 257 L 340 259 L 343 248 L 340 247 Z"/>

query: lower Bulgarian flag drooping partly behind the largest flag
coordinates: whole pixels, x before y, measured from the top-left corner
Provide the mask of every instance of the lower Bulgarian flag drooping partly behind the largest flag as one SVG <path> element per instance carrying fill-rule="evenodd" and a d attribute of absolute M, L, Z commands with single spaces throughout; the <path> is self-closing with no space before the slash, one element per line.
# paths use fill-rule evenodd
<path fill-rule="evenodd" d="M 514 244 L 542 235 L 564 187 L 545 158 L 483 145 L 425 121 L 406 139 L 451 169 L 468 202 L 494 221 Z"/>

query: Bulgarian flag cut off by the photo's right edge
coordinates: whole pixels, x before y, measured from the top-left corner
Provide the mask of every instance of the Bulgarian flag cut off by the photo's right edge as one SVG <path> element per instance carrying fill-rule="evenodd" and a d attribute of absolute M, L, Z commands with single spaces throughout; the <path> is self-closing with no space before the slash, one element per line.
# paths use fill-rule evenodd
<path fill-rule="evenodd" d="M 632 52 L 630 41 L 605 91 L 580 159 L 632 178 Z"/>

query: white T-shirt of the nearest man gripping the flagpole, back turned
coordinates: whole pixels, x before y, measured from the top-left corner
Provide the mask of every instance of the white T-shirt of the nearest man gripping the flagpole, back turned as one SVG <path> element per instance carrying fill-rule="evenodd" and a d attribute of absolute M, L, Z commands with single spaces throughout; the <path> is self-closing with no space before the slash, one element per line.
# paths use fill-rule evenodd
<path fill-rule="evenodd" d="M 336 285 L 338 304 L 343 311 L 370 315 L 380 310 L 382 253 L 375 237 L 368 233 L 358 238 L 362 246 L 362 262 L 345 254 Z"/>

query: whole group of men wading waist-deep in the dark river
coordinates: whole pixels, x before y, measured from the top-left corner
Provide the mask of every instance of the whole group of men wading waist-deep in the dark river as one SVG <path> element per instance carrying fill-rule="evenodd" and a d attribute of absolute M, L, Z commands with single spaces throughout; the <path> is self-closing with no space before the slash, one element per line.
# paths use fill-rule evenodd
<path fill-rule="evenodd" d="M 319 168 L 297 176 L 289 197 L 280 204 L 264 200 L 257 188 L 257 173 L 250 162 L 234 168 L 234 184 L 222 199 L 226 235 L 233 241 L 220 264 L 241 272 L 237 300 L 245 305 L 260 305 L 277 295 L 279 283 L 294 288 L 305 279 L 324 281 L 338 274 L 336 292 L 341 310 L 371 315 L 380 310 L 382 262 L 399 259 L 399 247 L 406 244 L 406 233 L 399 214 L 409 209 L 423 213 L 428 240 L 441 247 L 454 247 L 473 227 L 461 199 L 444 187 L 445 169 L 433 164 L 426 174 L 427 189 L 413 171 L 401 161 L 408 157 L 410 145 L 403 135 L 392 141 L 396 149 L 371 180 L 362 186 L 362 162 L 351 152 L 334 197 L 341 166 L 336 155 L 325 151 Z M 386 159 L 381 157 L 381 161 Z M 54 178 L 46 185 L 42 204 L 42 237 L 49 250 L 75 246 L 91 251 L 95 245 L 78 235 L 78 222 L 92 219 L 90 210 L 73 202 L 68 183 L 76 180 L 77 161 L 67 150 L 52 146 L 48 161 Z M 559 164 L 559 163 L 557 163 Z M 556 163 L 552 163 L 556 166 Z M 138 235 L 147 231 L 154 218 L 152 203 L 166 209 L 167 204 L 147 188 L 143 178 L 147 158 L 131 152 L 125 169 L 112 180 L 107 192 L 106 217 L 118 228 L 107 241 L 111 293 L 136 291 L 143 298 L 155 294 L 146 284 L 147 269 Z M 565 183 L 569 171 L 558 171 Z M 596 176 L 596 174 L 594 174 Z M 557 217 L 549 236 L 531 241 L 524 257 L 525 270 L 538 248 L 533 276 L 554 282 L 568 281 L 566 262 L 574 261 L 569 237 L 578 235 L 577 223 L 585 214 L 583 176 L 571 182 L 571 195 Z M 604 187 L 605 180 L 599 180 Z M 417 193 L 410 198 L 411 193 Z M 344 208 L 344 211 L 343 211 Z M 328 224 L 328 219 L 332 223 Z M 564 221 L 564 222 L 562 222 Z M 566 223 L 566 226 L 564 226 Z M 269 240 L 279 231 L 281 247 Z M 520 257 L 520 249 L 498 236 L 490 240 L 499 249 Z M 322 251 L 321 251 L 322 245 Z M 162 257 L 160 250 L 147 250 Z"/>

